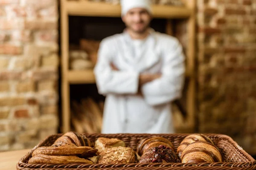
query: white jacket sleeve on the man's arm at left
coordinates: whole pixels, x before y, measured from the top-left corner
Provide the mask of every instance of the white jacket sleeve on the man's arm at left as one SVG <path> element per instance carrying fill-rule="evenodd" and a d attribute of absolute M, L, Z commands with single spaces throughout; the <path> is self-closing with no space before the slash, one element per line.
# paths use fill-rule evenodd
<path fill-rule="evenodd" d="M 115 54 L 113 43 L 102 40 L 98 60 L 94 68 L 99 94 L 136 94 L 139 86 L 139 73 L 136 71 L 114 71 L 111 68 Z"/>

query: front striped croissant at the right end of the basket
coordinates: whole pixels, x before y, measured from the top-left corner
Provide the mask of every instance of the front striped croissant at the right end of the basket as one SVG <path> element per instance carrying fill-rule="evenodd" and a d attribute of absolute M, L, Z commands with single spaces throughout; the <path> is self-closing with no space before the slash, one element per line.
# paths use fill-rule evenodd
<path fill-rule="evenodd" d="M 222 162 L 218 147 L 209 142 L 193 142 L 181 154 L 182 163 Z"/>

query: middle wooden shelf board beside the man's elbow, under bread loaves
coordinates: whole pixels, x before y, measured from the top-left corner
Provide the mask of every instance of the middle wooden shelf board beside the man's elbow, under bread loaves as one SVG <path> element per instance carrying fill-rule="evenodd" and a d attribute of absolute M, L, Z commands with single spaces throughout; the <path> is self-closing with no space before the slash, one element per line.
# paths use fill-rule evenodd
<path fill-rule="evenodd" d="M 93 70 L 68 71 L 67 81 L 70 84 L 90 84 L 95 83 Z"/>

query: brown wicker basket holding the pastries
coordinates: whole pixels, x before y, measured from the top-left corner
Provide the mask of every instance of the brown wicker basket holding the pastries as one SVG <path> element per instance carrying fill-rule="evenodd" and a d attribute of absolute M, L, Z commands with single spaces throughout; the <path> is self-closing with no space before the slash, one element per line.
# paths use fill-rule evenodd
<path fill-rule="evenodd" d="M 137 149 L 139 142 L 149 136 L 162 136 L 169 139 L 177 149 L 180 142 L 189 134 L 86 134 L 95 142 L 99 137 L 118 138 L 128 147 Z M 28 164 L 32 151 L 37 147 L 50 146 L 61 134 L 47 137 L 34 147 L 26 156 L 17 163 L 17 170 L 252 170 L 256 169 L 256 161 L 246 153 L 229 136 L 220 134 L 205 134 L 209 136 L 221 150 L 225 162 L 217 163 L 151 163 L 151 164 Z"/>

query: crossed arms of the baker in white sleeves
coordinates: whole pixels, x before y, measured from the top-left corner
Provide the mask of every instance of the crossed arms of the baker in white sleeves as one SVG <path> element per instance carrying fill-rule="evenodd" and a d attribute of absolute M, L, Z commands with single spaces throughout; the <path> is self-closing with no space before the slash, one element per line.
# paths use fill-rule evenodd
<path fill-rule="evenodd" d="M 140 74 L 118 70 L 111 62 L 111 48 L 102 43 L 94 69 L 100 94 L 142 94 L 149 105 L 160 105 L 181 96 L 184 56 L 179 43 L 166 51 L 162 74 Z"/>

